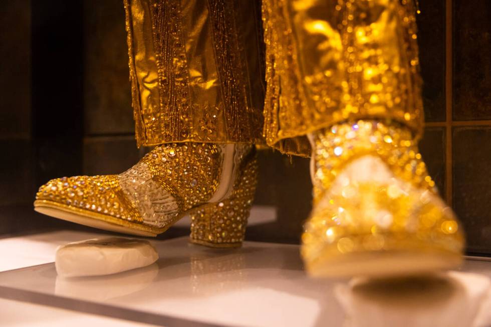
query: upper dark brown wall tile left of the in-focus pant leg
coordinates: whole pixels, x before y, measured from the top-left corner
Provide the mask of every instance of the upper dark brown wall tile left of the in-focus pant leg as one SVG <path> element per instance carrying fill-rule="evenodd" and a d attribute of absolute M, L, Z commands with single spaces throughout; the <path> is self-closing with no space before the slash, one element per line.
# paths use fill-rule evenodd
<path fill-rule="evenodd" d="M 122 0 L 84 1 L 85 134 L 133 134 Z"/>

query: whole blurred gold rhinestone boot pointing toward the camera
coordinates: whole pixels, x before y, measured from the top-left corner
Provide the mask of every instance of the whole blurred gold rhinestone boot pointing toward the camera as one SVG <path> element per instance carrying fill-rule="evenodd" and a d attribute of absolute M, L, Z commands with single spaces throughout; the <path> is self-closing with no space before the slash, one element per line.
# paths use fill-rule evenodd
<path fill-rule="evenodd" d="M 462 230 L 409 129 L 358 121 L 311 141 L 314 204 L 302 235 L 310 275 L 411 275 L 461 262 Z"/>

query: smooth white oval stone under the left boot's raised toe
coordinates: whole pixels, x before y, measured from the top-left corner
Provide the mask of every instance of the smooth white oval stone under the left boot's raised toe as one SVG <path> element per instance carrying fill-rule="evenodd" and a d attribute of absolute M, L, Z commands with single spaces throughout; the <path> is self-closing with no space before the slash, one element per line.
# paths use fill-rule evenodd
<path fill-rule="evenodd" d="M 157 261 L 150 242 L 120 237 L 68 243 L 56 250 L 59 276 L 99 276 L 145 267 Z"/>

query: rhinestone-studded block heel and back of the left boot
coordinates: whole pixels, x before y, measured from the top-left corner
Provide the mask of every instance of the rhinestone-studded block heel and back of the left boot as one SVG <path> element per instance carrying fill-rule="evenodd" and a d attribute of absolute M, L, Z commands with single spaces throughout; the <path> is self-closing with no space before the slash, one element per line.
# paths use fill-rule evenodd
<path fill-rule="evenodd" d="M 256 192 L 258 161 L 253 151 L 244 160 L 227 199 L 207 203 L 190 213 L 191 243 L 210 247 L 239 247 Z"/>

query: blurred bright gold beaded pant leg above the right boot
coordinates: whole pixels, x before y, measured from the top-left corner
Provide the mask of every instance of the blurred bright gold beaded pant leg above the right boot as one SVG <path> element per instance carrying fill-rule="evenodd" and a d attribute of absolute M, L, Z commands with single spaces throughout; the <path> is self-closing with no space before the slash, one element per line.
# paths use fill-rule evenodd
<path fill-rule="evenodd" d="M 422 131 L 412 0 L 264 0 L 264 134 L 310 155 L 307 133 L 353 119 Z"/>

